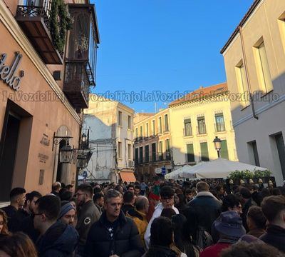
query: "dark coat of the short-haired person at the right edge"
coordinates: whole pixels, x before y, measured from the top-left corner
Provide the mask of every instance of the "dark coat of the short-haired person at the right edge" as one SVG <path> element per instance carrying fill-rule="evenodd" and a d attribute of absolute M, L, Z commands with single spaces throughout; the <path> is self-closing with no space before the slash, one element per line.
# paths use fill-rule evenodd
<path fill-rule="evenodd" d="M 269 225 L 267 226 L 266 233 L 259 237 L 259 239 L 285 253 L 285 228 Z"/>

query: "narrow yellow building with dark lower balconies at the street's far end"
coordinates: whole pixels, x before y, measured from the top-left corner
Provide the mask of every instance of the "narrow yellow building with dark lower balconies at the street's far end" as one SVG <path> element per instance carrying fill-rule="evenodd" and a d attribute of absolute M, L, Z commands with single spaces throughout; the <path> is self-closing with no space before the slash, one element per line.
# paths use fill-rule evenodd
<path fill-rule="evenodd" d="M 142 181 L 172 171 L 172 143 L 169 109 L 157 114 L 135 114 L 135 173 Z"/>

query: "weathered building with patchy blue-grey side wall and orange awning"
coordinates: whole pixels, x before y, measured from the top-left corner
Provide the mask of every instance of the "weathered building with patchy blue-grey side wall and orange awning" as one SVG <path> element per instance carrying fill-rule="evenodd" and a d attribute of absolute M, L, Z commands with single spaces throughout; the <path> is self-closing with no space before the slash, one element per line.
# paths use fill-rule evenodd
<path fill-rule="evenodd" d="M 133 181 L 133 109 L 92 94 L 84 113 L 83 126 L 90 131 L 89 144 L 93 148 L 86 168 L 88 178 Z"/>

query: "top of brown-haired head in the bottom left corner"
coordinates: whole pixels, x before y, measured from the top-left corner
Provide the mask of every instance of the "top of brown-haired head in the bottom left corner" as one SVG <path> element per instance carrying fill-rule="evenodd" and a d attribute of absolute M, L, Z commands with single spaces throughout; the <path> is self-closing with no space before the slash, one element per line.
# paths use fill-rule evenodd
<path fill-rule="evenodd" d="M 22 232 L 0 238 L 0 256 L 38 257 L 33 241 Z"/>

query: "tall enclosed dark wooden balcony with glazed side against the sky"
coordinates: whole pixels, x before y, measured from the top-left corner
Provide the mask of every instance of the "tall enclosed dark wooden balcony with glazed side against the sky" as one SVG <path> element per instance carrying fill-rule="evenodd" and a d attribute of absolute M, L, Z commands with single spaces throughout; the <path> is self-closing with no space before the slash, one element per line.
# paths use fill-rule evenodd
<path fill-rule="evenodd" d="M 93 4 L 68 4 L 68 10 L 74 22 L 66 48 L 63 93 L 75 109 L 87 109 L 100 43 L 97 19 Z"/>

